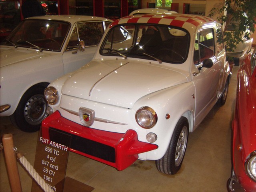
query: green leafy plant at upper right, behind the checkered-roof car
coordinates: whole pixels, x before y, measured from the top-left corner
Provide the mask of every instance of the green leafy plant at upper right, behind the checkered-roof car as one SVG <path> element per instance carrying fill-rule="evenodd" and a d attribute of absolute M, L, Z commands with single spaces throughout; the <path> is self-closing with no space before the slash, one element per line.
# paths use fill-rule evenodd
<path fill-rule="evenodd" d="M 228 14 L 224 14 L 227 12 Z M 224 41 L 228 52 L 234 52 L 236 45 L 243 42 L 242 38 L 250 39 L 256 24 L 255 0 L 225 0 L 221 8 L 212 8 L 209 17 L 216 17 L 221 24 L 225 24 Z M 228 30 L 228 26 L 233 30 Z"/>

